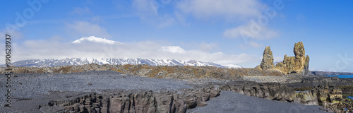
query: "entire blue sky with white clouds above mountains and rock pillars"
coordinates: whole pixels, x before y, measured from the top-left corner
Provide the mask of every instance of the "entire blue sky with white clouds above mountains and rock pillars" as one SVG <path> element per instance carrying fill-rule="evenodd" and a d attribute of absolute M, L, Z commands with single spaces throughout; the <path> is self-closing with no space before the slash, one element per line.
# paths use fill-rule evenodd
<path fill-rule="evenodd" d="M 255 67 L 265 46 L 271 47 L 275 61 L 282 61 L 285 54 L 294 56 L 294 43 L 303 41 L 311 58 L 309 69 L 353 71 L 353 1 L 348 0 L 0 3 L 6 4 L 1 5 L 0 35 L 13 37 L 13 61 L 128 57 L 196 59 Z M 256 24 L 259 29 L 251 30 Z M 10 25 L 16 30 L 8 30 Z M 90 36 L 119 43 L 72 43 Z"/>

